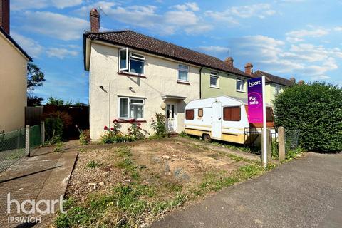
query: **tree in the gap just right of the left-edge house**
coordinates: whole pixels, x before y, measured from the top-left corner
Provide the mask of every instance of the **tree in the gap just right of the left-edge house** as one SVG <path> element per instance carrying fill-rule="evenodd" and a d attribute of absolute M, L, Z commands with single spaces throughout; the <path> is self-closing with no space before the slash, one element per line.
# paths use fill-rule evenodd
<path fill-rule="evenodd" d="M 28 106 L 41 105 L 43 98 L 34 95 L 35 88 L 43 86 L 44 73 L 36 64 L 27 64 L 27 104 Z"/>

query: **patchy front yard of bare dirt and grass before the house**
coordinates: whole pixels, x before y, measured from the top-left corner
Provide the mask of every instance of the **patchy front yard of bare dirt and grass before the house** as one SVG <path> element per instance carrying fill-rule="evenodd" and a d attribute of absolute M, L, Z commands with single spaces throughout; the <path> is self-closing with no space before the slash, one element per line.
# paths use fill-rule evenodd
<path fill-rule="evenodd" d="M 188 138 L 79 150 L 56 227 L 146 227 L 172 209 L 265 172 L 259 157 Z"/>

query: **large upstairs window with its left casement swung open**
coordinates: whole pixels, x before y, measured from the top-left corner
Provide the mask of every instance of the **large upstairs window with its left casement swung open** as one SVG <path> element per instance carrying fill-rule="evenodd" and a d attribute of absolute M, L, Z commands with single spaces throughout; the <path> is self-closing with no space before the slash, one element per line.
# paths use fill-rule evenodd
<path fill-rule="evenodd" d="M 128 48 L 120 49 L 119 71 L 136 74 L 144 74 L 145 56 L 128 51 Z"/>

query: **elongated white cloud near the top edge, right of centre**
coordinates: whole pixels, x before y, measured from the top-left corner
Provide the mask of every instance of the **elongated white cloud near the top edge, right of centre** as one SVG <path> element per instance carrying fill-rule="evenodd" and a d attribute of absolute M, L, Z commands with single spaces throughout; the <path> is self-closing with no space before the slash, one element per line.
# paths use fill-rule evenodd
<path fill-rule="evenodd" d="M 237 18 L 247 19 L 257 17 L 264 19 L 266 16 L 276 14 L 271 4 L 252 4 L 247 6 L 233 6 L 224 11 L 206 11 L 205 15 L 219 21 L 230 21 L 237 24 Z"/>

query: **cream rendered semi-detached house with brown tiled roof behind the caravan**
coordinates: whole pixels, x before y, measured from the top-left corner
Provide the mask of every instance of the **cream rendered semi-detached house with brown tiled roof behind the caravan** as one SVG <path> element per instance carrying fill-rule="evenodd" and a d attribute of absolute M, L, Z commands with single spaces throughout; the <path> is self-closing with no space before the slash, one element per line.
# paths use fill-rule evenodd
<path fill-rule="evenodd" d="M 218 95 L 217 88 L 227 93 L 224 95 L 239 97 L 239 93 L 230 93 L 235 91 L 236 75 L 242 78 L 241 90 L 246 94 L 250 76 L 227 61 L 134 31 L 99 32 L 96 9 L 90 11 L 90 28 L 83 34 L 83 54 L 90 76 L 93 140 L 98 140 L 104 126 L 110 127 L 115 119 L 123 131 L 134 119 L 152 134 L 150 120 L 155 113 L 165 113 L 168 130 L 180 133 L 190 100 Z M 221 82 L 221 77 L 229 81 Z M 214 79 L 217 88 L 213 88 Z"/>

